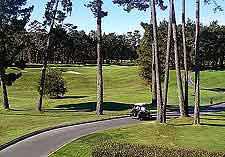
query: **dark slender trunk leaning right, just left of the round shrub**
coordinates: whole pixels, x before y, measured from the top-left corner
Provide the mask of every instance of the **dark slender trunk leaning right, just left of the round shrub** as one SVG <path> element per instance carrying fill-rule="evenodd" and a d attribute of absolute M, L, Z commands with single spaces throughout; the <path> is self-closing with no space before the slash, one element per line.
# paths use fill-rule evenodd
<path fill-rule="evenodd" d="M 47 70 L 47 64 L 48 64 L 48 52 L 49 52 L 49 49 L 51 47 L 52 29 L 53 29 L 54 24 L 55 24 L 55 17 L 56 17 L 56 11 L 58 9 L 58 5 L 59 5 L 59 0 L 57 0 L 57 2 L 56 2 L 53 20 L 52 20 L 50 30 L 49 30 L 49 33 L 48 33 L 47 47 L 44 50 L 44 55 L 43 55 L 44 61 L 43 61 L 43 67 L 42 67 L 42 71 L 41 71 L 41 83 L 40 83 L 40 89 L 39 89 L 40 92 L 39 92 L 38 108 L 37 108 L 39 112 L 42 111 L 45 77 L 46 77 L 46 70 Z"/>

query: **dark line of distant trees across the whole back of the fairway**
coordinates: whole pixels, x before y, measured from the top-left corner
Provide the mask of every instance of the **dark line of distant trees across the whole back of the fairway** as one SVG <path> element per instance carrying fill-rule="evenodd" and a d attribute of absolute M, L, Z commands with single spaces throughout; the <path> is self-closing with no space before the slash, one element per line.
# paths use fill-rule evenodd
<path fill-rule="evenodd" d="M 36 21 L 37 22 L 37 21 Z M 44 28 L 30 29 L 26 32 L 27 47 L 23 51 L 24 59 L 27 63 L 42 63 L 43 48 L 47 41 L 47 33 Z M 145 30 L 144 36 L 141 37 L 139 31 L 128 32 L 127 34 L 118 35 L 116 33 L 104 33 L 102 35 L 102 53 L 104 63 L 113 64 L 119 63 L 123 60 L 135 61 L 138 59 L 139 65 L 146 64 L 144 60 L 149 57 L 148 62 L 151 61 L 151 47 L 149 33 L 152 28 L 147 23 L 141 23 Z M 166 59 L 166 40 L 167 40 L 167 27 L 166 20 L 159 23 L 158 38 L 159 38 L 159 51 L 160 61 L 165 62 Z M 91 31 L 86 33 L 78 31 L 76 26 L 66 24 L 63 27 L 58 25 L 54 28 L 54 47 L 49 54 L 49 63 L 55 64 L 86 64 L 96 63 L 96 32 Z M 195 35 L 195 23 L 190 19 L 186 23 L 186 38 L 187 38 L 187 55 L 189 67 L 194 64 L 194 47 L 192 42 Z M 180 57 L 180 65 L 183 67 L 184 60 L 182 52 L 182 25 L 177 27 L 178 50 Z M 225 26 L 219 25 L 217 21 L 210 23 L 210 25 L 201 25 L 200 33 L 200 55 L 202 68 L 223 68 L 225 60 Z M 172 44 L 173 45 L 173 44 Z M 173 51 L 173 46 L 171 47 Z M 146 56 L 147 55 L 147 56 Z M 143 62 L 142 62 L 143 60 Z M 150 62 L 149 68 L 151 67 Z M 174 53 L 170 55 L 170 67 L 175 68 Z M 146 66 L 145 66 L 146 68 Z M 164 69 L 164 66 L 161 67 Z M 151 70 L 149 71 L 151 73 Z"/>

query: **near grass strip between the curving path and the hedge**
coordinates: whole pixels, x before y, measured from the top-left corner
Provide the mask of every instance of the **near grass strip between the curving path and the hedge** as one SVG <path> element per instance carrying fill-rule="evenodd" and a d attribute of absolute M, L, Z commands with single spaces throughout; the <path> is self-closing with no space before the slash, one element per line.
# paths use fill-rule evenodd
<path fill-rule="evenodd" d="M 192 119 L 186 118 L 171 120 L 167 125 L 146 122 L 95 133 L 62 147 L 51 157 L 91 157 L 91 145 L 104 140 L 225 152 L 224 114 L 202 117 L 201 126 L 191 125 Z"/>

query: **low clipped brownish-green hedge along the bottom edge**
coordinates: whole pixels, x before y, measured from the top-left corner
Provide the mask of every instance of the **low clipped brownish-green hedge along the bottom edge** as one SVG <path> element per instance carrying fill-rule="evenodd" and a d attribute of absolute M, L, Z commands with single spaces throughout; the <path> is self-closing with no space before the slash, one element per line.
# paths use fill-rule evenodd
<path fill-rule="evenodd" d="M 93 157 L 225 157 L 222 152 L 101 142 L 92 147 Z"/>

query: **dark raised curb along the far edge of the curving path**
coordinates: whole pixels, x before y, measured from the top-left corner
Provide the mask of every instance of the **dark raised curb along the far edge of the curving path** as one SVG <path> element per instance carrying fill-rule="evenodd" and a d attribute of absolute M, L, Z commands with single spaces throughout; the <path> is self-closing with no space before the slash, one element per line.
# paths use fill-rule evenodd
<path fill-rule="evenodd" d="M 88 124 L 88 123 L 94 123 L 94 122 L 101 122 L 101 121 L 106 121 L 106 120 L 113 120 L 113 119 L 120 119 L 120 118 L 126 118 L 126 117 L 129 117 L 129 115 L 125 115 L 125 116 L 117 116 L 117 117 L 112 117 L 112 118 L 106 118 L 106 119 L 99 119 L 99 120 L 93 120 L 93 121 L 87 121 L 87 122 L 80 122 L 80 123 L 71 123 L 71 124 L 65 124 L 65 125 L 58 125 L 58 126 L 55 126 L 55 127 L 50 127 L 50 128 L 45 128 L 45 129 L 41 129 L 41 130 L 38 130 L 38 131 L 34 131 L 34 132 L 31 132 L 31 133 L 28 133 L 28 134 L 25 134 L 25 135 L 22 135 L 22 136 L 19 136 L 5 144 L 2 144 L 0 145 L 0 151 L 9 147 L 9 146 L 12 146 L 20 141 L 23 141 L 29 137 L 32 137 L 32 136 L 35 136 L 35 135 L 38 135 L 38 134 L 41 134 L 41 133 L 44 133 L 44 132 L 47 132 L 47 131 L 51 131 L 51 130 L 54 130 L 54 129 L 60 129 L 60 128 L 64 128 L 64 127 L 69 127 L 69 126 L 76 126 L 76 125 L 81 125 L 81 124 Z"/>

